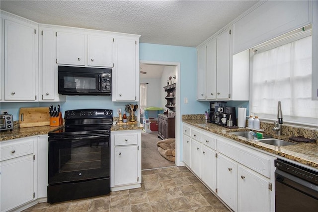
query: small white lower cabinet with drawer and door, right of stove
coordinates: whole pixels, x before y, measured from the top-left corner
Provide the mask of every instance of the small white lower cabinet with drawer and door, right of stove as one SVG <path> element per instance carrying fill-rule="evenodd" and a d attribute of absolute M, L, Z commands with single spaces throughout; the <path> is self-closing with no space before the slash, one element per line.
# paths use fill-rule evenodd
<path fill-rule="evenodd" d="M 141 130 L 111 132 L 112 191 L 141 187 Z"/>

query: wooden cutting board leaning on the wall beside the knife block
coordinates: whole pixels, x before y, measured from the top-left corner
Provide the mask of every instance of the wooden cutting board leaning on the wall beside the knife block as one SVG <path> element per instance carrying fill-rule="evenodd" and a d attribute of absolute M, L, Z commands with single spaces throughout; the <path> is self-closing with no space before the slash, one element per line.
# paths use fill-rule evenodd
<path fill-rule="evenodd" d="M 20 128 L 50 125 L 49 107 L 21 107 L 19 124 Z"/>

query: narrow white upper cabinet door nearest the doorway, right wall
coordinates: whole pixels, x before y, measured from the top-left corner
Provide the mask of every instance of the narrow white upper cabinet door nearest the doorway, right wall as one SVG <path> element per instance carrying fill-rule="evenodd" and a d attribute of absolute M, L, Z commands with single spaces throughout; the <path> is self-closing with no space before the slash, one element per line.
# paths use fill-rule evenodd
<path fill-rule="evenodd" d="M 197 99 L 206 99 L 206 46 L 198 49 Z"/>

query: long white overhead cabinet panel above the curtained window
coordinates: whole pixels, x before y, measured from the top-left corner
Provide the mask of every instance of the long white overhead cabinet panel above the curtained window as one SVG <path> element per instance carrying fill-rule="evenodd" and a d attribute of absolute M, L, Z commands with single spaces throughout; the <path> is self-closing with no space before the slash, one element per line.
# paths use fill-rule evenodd
<path fill-rule="evenodd" d="M 311 23 L 313 2 L 265 1 L 234 24 L 234 54 Z"/>

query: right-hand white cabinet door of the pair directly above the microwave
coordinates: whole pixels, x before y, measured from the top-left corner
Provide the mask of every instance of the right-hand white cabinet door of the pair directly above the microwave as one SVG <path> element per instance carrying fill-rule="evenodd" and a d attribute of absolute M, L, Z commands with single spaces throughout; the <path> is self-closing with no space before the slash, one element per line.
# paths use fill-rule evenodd
<path fill-rule="evenodd" d="M 88 66 L 113 67 L 113 38 L 87 35 Z"/>

